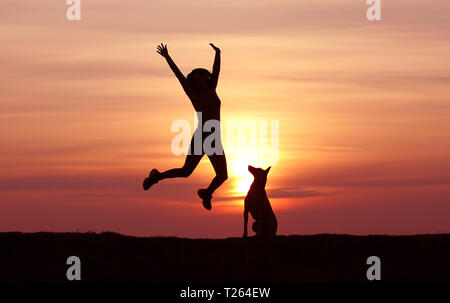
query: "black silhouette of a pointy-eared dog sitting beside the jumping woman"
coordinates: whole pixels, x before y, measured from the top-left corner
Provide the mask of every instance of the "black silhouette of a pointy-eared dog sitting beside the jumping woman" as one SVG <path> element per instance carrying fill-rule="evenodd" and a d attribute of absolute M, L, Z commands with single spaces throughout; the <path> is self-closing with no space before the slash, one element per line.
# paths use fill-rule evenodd
<path fill-rule="evenodd" d="M 252 215 L 252 230 L 256 236 L 273 237 L 277 232 L 278 222 L 275 213 L 270 206 L 266 194 L 267 174 L 270 167 L 266 170 L 248 166 L 248 171 L 255 178 L 244 200 L 244 238 L 247 237 L 248 213 Z"/>

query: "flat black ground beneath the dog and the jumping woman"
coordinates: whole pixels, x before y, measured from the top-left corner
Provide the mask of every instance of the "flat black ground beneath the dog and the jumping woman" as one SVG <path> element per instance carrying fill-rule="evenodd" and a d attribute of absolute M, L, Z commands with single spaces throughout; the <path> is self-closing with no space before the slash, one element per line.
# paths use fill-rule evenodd
<path fill-rule="evenodd" d="M 313 235 L 273 240 L 138 238 L 115 233 L 0 233 L 0 282 L 64 282 L 66 259 L 84 282 L 449 282 L 450 234 Z"/>

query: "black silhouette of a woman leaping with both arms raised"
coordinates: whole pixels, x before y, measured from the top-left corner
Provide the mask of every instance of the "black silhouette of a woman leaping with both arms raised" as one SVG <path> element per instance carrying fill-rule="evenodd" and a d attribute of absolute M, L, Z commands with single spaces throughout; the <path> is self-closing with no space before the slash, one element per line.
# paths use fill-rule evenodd
<path fill-rule="evenodd" d="M 199 120 L 199 125 L 197 126 L 194 136 L 192 137 L 189 152 L 186 156 L 183 167 L 173 168 L 162 173 L 157 169 L 152 169 L 148 177 L 145 178 L 143 182 L 144 190 L 148 190 L 153 184 L 158 183 L 163 179 L 177 177 L 186 178 L 190 176 L 205 154 L 205 151 L 203 150 L 203 142 L 205 138 L 207 138 L 211 134 L 211 132 L 205 132 L 203 130 L 203 125 L 208 120 L 220 121 L 221 103 L 216 93 L 217 81 L 219 79 L 220 71 L 220 49 L 212 43 L 210 43 L 210 45 L 216 52 L 212 73 L 204 68 L 196 68 L 187 77 L 185 77 L 181 73 L 175 62 L 173 62 L 172 58 L 169 56 L 169 52 L 167 51 L 167 44 L 164 45 L 161 43 L 160 45 L 158 45 L 157 52 L 166 59 L 173 73 L 180 81 L 186 95 L 191 100 L 195 111 L 202 114 L 202 123 L 200 123 Z M 215 131 L 220 131 L 220 128 L 218 130 L 215 129 Z M 201 151 L 195 150 L 194 152 L 194 137 L 196 137 L 196 134 L 202 138 L 202 148 Z M 209 184 L 208 188 L 199 189 L 197 191 L 197 194 L 202 199 L 203 206 L 207 210 L 211 209 L 212 194 L 228 178 L 227 161 L 225 159 L 225 153 L 223 152 L 222 142 L 215 142 L 215 144 L 219 144 L 218 146 L 220 152 L 207 154 L 214 168 L 214 171 L 216 172 L 216 176 L 211 181 L 211 184 Z"/>

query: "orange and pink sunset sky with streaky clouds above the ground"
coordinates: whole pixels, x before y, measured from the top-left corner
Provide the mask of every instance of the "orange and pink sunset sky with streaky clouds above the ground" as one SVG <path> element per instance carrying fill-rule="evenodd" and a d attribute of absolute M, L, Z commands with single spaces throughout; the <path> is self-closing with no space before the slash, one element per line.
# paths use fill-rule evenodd
<path fill-rule="evenodd" d="M 214 171 L 179 167 L 171 132 L 192 105 L 159 43 L 187 75 L 212 69 L 222 120 L 279 121 L 267 192 L 279 234 L 450 232 L 450 2 L 65 0 L 0 4 L 0 231 L 242 235 L 250 150 Z M 193 127 L 193 124 L 192 124 Z M 225 144 L 225 151 L 227 145 Z M 264 151 L 259 151 L 264 152 Z"/>

